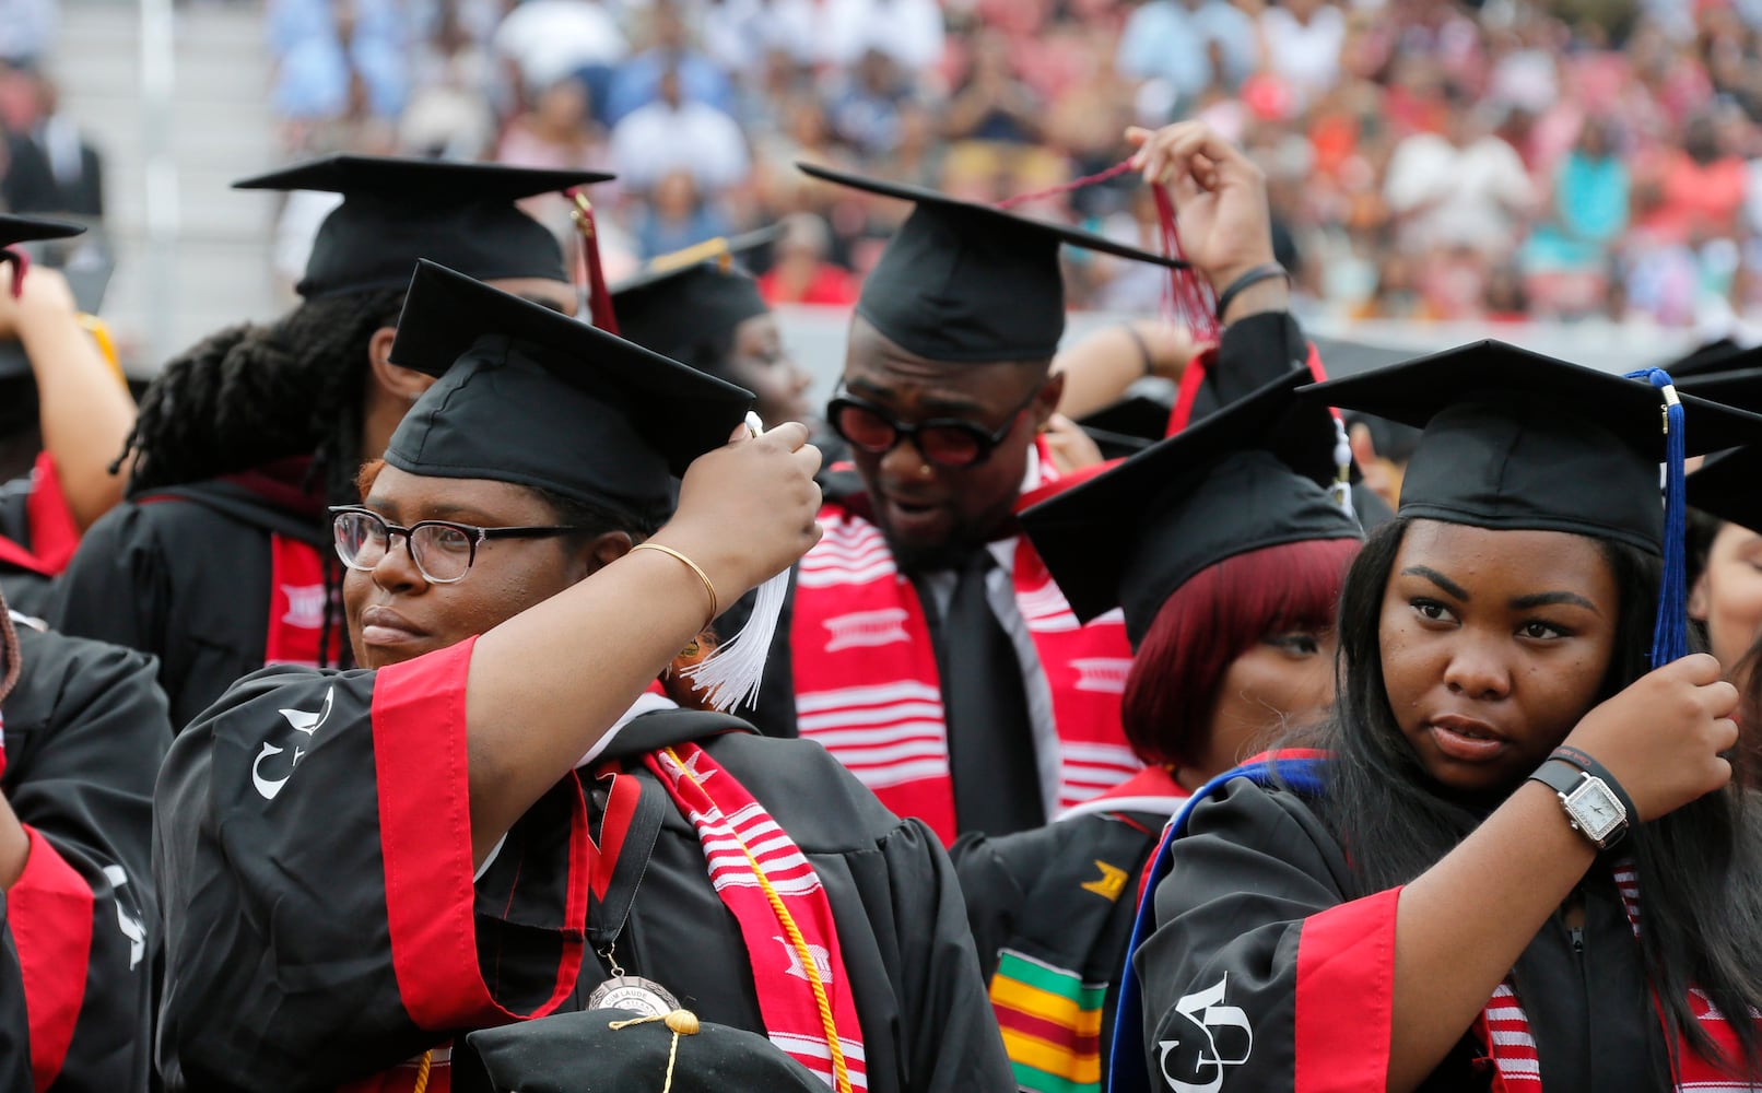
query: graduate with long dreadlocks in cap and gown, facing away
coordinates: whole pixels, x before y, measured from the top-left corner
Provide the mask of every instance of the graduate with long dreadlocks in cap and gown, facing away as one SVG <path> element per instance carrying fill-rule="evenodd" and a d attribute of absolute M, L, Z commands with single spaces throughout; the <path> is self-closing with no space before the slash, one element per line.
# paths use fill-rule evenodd
<path fill-rule="evenodd" d="M 203 340 L 148 388 L 129 501 L 92 527 L 51 621 L 157 656 L 180 730 L 268 663 L 342 663 L 324 506 L 352 497 L 430 383 L 386 356 L 411 266 L 433 257 L 573 314 L 560 245 L 515 201 L 603 178 L 337 155 L 236 183 L 344 201 L 300 307 Z"/>

